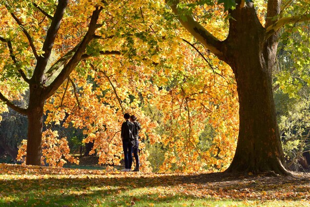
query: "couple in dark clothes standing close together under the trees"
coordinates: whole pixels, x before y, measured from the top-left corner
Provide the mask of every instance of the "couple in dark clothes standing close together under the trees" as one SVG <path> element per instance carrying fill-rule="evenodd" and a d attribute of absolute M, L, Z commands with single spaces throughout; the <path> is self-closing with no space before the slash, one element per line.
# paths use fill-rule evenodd
<path fill-rule="evenodd" d="M 136 121 L 137 117 L 129 113 L 124 114 L 125 122 L 122 123 L 121 138 L 123 141 L 125 169 L 121 171 L 130 172 L 132 165 L 132 153 L 136 159 L 135 172 L 139 171 L 139 130 L 141 129 L 140 123 Z M 130 119 L 130 121 L 129 121 Z"/>

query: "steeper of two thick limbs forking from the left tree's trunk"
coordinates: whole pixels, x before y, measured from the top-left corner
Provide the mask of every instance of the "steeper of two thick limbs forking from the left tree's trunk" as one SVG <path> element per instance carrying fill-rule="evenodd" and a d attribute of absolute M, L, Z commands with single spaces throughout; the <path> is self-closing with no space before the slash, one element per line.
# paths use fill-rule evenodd
<path fill-rule="evenodd" d="M 58 0 L 58 5 L 56 7 L 54 17 L 52 19 L 50 28 L 47 32 L 47 35 L 46 35 L 46 38 L 45 38 L 45 41 L 42 47 L 42 51 L 44 53 L 43 55 L 39 57 L 36 68 L 32 76 L 32 78 L 36 79 L 36 81 L 38 81 L 38 79 L 41 79 L 44 75 L 44 70 L 51 56 L 54 41 L 58 33 L 60 22 L 63 17 L 64 11 L 67 7 L 68 1 L 69 0 Z"/>

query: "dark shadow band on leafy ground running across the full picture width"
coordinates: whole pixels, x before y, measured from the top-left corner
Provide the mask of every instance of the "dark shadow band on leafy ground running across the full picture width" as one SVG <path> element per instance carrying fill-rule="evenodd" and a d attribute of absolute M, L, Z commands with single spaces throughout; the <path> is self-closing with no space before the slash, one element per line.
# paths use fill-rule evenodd
<path fill-rule="evenodd" d="M 157 187 L 170 186 L 173 187 L 179 184 L 202 184 L 203 186 L 211 185 L 215 189 L 219 188 L 245 188 L 245 187 L 261 187 L 264 189 L 270 186 L 270 189 L 277 188 L 278 185 L 286 184 L 310 184 L 310 179 L 295 178 L 289 176 L 279 177 L 239 177 L 229 173 L 210 173 L 198 175 L 160 175 L 144 177 L 133 177 L 135 174 L 128 173 L 123 177 L 103 177 L 103 178 L 46 178 L 46 179 L 28 179 L 21 176 L 20 179 L 0 180 L 0 192 L 4 190 L 38 190 L 38 189 L 58 189 L 58 188 L 87 188 L 87 187 Z M 234 189 L 234 188 L 233 188 Z"/>

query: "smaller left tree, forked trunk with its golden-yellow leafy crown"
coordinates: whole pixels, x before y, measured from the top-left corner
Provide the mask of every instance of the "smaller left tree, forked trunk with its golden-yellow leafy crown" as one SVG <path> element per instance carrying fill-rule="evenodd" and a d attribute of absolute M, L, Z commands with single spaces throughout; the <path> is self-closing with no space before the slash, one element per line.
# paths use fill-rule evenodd
<path fill-rule="evenodd" d="M 100 162 L 110 163 L 115 159 L 115 163 L 117 163 L 119 157 L 114 156 L 110 152 L 115 152 L 115 150 L 120 152 L 121 149 L 119 142 L 117 142 L 118 140 L 114 139 L 118 131 L 117 126 L 122 121 L 118 117 L 121 117 L 120 114 L 130 107 L 137 108 L 132 111 L 139 112 L 140 95 L 135 97 L 135 100 L 138 101 L 133 101 L 133 95 L 128 94 L 128 91 L 131 91 L 132 94 L 136 93 L 136 95 L 141 93 L 141 96 L 149 96 L 151 94 L 150 92 L 144 93 L 143 90 L 135 89 L 135 87 L 141 88 L 141 85 L 145 87 L 152 86 L 150 79 L 147 84 L 144 80 L 141 80 L 141 83 L 137 81 L 140 77 L 146 77 L 139 70 L 145 68 L 146 71 L 151 72 L 150 67 L 143 67 L 142 62 L 146 65 L 160 65 L 158 55 L 156 55 L 156 52 L 159 51 L 157 43 L 165 40 L 161 35 L 163 32 L 156 33 L 160 30 L 160 25 L 149 23 L 149 20 L 154 18 L 152 8 L 155 6 L 158 8 L 159 4 L 157 5 L 156 2 L 150 1 L 144 6 L 143 2 L 128 1 L 124 3 L 122 0 L 114 0 L 107 4 L 104 1 L 98 0 L 99 6 L 95 10 L 96 15 L 99 16 L 99 13 L 104 15 L 99 16 L 99 21 L 102 24 L 97 25 L 95 21 L 89 18 L 94 8 L 93 1 L 84 2 L 85 4 L 75 2 L 68 6 L 62 18 L 62 21 L 65 23 L 62 23 L 58 32 L 54 32 L 55 35 L 57 34 L 57 37 L 54 39 L 55 44 L 53 48 L 50 48 L 50 57 L 46 57 L 46 65 L 43 68 L 41 67 L 42 65 L 39 65 L 41 60 L 37 61 L 37 58 L 43 58 L 44 55 L 38 55 L 40 51 L 36 52 L 35 49 L 45 46 L 45 42 L 48 40 L 49 36 L 46 36 L 46 30 L 49 27 L 52 28 L 50 20 L 53 22 L 54 18 L 50 13 L 54 13 L 54 4 L 50 1 L 41 1 L 40 3 L 29 0 L 22 2 L 11 1 L 9 3 L 1 1 L 1 9 L 4 12 L 1 16 L 1 25 L 3 25 L 1 27 L 1 37 L 3 37 L 0 42 L 0 50 L 6 55 L 6 58 L 1 58 L 0 70 L 3 72 L 1 76 L 3 83 L 6 82 L 6 78 L 15 78 L 17 81 L 20 81 L 21 77 L 24 77 L 27 83 L 28 79 L 26 78 L 32 76 L 29 80 L 37 80 L 36 83 L 38 84 L 34 86 L 40 86 L 40 89 L 33 89 L 32 83 L 27 83 L 28 85 L 30 84 L 30 101 L 27 109 L 14 107 L 9 101 L 16 98 L 9 95 L 11 95 L 10 92 L 18 91 L 17 84 L 12 84 L 11 90 L 4 90 L 5 94 L 3 94 L 2 101 L 14 107 L 18 112 L 27 113 L 29 120 L 40 120 L 38 117 L 42 117 L 42 114 L 46 111 L 52 114 L 48 116 L 46 123 L 54 122 L 59 124 L 66 117 L 68 122 L 71 121 L 73 123 L 74 127 L 81 127 L 83 125 L 81 128 L 86 128 L 83 133 L 87 137 L 84 142 L 92 142 L 95 139 L 99 140 L 96 140 L 94 148 L 100 150 L 97 151 L 101 157 Z M 85 10 L 83 15 L 80 15 L 81 10 Z M 99 10 L 103 10 L 103 12 Z M 95 11 L 93 14 L 95 14 Z M 158 9 L 157 11 L 160 10 Z M 59 19 L 61 18 L 59 17 Z M 16 22 L 19 24 L 16 25 Z M 88 26 L 89 29 L 85 29 Z M 97 29 L 96 35 L 95 29 Z M 173 33 L 173 31 L 171 30 L 170 33 Z M 168 34 L 166 33 L 166 35 Z M 86 45 L 88 47 L 85 47 Z M 15 49 L 16 51 L 14 51 Z M 112 49 L 117 49 L 117 51 Z M 166 50 L 166 52 L 169 51 Z M 79 56 L 80 54 L 82 55 Z M 122 58 L 113 57 L 108 59 L 105 54 L 122 54 Z M 85 60 L 87 58 L 89 60 Z M 80 59 L 85 61 L 78 65 Z M 138 65 L 136 66 L 136 64 Z M 73 71 L 75 66 L 77 66 L 77 70 Z M 70 71 L 73 71 L 73 73 Z M 96 87 L 91 87 L 89 78 L 96 80 Z M 67 81 L 62 84 L 65 79 Z M 122 85 L 124 87 L 121 87 Z M 128 86 L 131 88 L 128 89 Z M 72 94 L 68 93 L 70 88 L 73 91 Z M 153 89 L 152 87 L 149 88 Z M 57 89 L 60 89 L 58 90 L 59 93 L 56 92 Z M 93 89 L 96 91 L 92 91 Z M 108 96 L 105 96 L 105 94 Z M 71 100 L 66 102 L 68 97 Z M 114 98 L 116 99 L 114 100 Z M 42 109 L 40 110 L 41 114 L 35 114 L 35 117 L 30 117 L 31 114 L 29 115 L 28 113 L 35 111 L 33 110 L 35 107 L 34 103 L 38 102 L 38 100 L 40 102 L 39 106 Z M 43 108 L 45 102 L 46 104 Z M 57 105 L 58 103 L 59 105 Z M 72 106 L 72 108 L 64 109 L 62 107 L 64 105 Z M 113 117 L 113 119 L 107 119 L 106 122 L 102 121 L 107 118 L 106 114 Z M 78 115 L 80 117 L 77 117 Z M 147 117 L 141 117 L 145 119 L 146 126 L 154 125 Z M 64 125 L 69 124 L 68 122 Z M 43 120 L 40 120 L 39 124 L 29 122 L 29 130 L 32 131 L 31 133 L 29 132 L 28 136 L 26 160 L 30 160 L 29 156 L 31 154 L 35 154 L 37 164 L 39 163 L 41 151 L 42 124 Z M 40 127 L 38 128 L 36 125 Z M 34 136 L 30 135 L 36 129 L 35 137 L 37 138 L 33 140 Z M 150 133 L 152 127 L 146 127 L 146 129 L 145 132 L 148 138 L 155 137 Z M 47 131 L 46 134 L 57 133 Z M 111 148 L 113 149 L 111 150 Z M 33 153 L 33 151 L 36 153 Z M 25 146 L 22 147 L 21 152 L 21 156 L 26 152 Z M 109 155 L 104 156 L 105 154 Z M 29 164 L 29 161 L 27 163 Z"/>

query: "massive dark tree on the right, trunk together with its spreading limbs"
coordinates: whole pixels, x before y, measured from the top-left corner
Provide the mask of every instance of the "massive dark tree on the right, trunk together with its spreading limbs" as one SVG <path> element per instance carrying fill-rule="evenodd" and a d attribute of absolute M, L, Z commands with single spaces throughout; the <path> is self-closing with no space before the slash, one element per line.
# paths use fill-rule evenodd
<path fill-rule="evenodd" d="M 272 69 L 275 62 L 279 29 L 285 24 L 310 19 L 309 3 L 298 11 L 288 9 L 292 0 L 281 7 L 281 0 L 268 0 L 265 24 L 258 19 L 257 8 L 251 0 L 221 0 L 228 10 L 229 31 L 225 40 L 214 37 L 193 18 L 192 11 L 205 3 L 186 4 L 166 0 L 180 23 L 207 50 L 232 68 L 239 96 L 239 136 L 236 153 L 227 172 L 265 172 L 290 174 L 285 168 L 284 155 L 276 121 L 272 94 Z M 286 11 L 289 16 L 283 17 Z M 189 12 L 190 11 L 190 12 Z M 208 9 L 203 10 L 206 14 Z M 210 11 L 211 12 L 211 11 Z M 295 13 L 294 13 L 295 12 Z M 196 17 L 199 14 L 195 13 Z M 207 15 L 205 15 L 207 16 Z"/>

